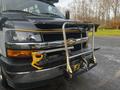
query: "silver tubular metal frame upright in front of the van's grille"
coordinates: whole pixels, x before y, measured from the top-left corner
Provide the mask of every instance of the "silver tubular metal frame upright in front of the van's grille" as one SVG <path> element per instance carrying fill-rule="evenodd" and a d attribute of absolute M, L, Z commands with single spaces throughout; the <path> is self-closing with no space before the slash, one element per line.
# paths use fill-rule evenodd
<path fill-rule="evenodd" d="M 70 59 L 78 57 L 78 56 L 82 56 L 82 55 L 90 53 L 92 51 L 93 60 L 94 60 L 94 63 L 96 63 L 95 51 L 94 51 L 95 25 L 92 24 L 93 25 L 93 27 L 92 27 L 92 50 L 86 51 L 86 52 L 83 52 L 83 53 L 80 53 L 80 54 L 77 54 L 77 55 L 70 56 L 69 51 L 68 51 L 68 45 L 67 45 L 67 36 L 66 36 L 66 32 L 65 32 L 66 31 L 66 25 L 70 25 L 70 24 L 80 24 L 80 23 L 79 22 L 65 22 L 62 26 L 64 46 L 65 46 L 65 54 L 66 54 L 66 63 L 67 63 L 66 71 L 68 72 L 69 76 L 72 77 L 73 70 L 72 70 L 71 65 L 70 65 Z M 81 33 L 81 38 L 82 38 L 82 33 Z M 82 44 L 81 44 L 81 50 L 83 50 Z M 83 58 L 83 60 L 85 60 L 85 59 Z"/>

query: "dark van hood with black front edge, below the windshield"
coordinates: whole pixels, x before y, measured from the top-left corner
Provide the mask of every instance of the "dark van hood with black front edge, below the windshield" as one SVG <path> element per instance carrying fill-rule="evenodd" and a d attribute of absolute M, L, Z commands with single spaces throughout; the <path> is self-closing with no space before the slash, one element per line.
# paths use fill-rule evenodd
<path fill-rule="evenodd" d="M 93 26 L 97 27 L 98 24 L 82 22 L 78 20 L 68 20 L 64 18 L 54 18 L 54 17 L 26 17 L 20 13 L 4 12 L 2 17 L 7 17 L 7 24 L 12 25 L 15 29 L 57 29 L 62 28 L 65 22 L 79 22 L 80 28 L 90 29 Z M 67 25 L 67 27 L 75 27 L 76 25 Z"/>

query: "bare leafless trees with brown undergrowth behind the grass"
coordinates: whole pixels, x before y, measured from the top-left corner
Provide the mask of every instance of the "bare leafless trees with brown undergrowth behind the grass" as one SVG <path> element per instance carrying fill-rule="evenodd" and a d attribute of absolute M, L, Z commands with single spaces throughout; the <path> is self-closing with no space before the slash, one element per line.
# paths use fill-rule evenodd
<path fill-rule="evenodd" d="M 74 19 L 120 28 L 120 0 L 73 0 L 70 11 Z"/>

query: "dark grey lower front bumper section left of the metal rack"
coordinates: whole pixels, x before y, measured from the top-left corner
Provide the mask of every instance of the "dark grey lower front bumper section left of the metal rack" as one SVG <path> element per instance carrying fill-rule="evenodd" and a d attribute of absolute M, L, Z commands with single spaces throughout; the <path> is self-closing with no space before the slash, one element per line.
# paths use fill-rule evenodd
<path fill-rule="evenodd" d="M 63 67 L 64 65 L 61 65 L 46 70 L 18 73 L 5 71 L 4 75 L 9 86 L 18 89 L 29 89 L 46 85 L 54 78 L 62 76 L 64 74 Z"/>

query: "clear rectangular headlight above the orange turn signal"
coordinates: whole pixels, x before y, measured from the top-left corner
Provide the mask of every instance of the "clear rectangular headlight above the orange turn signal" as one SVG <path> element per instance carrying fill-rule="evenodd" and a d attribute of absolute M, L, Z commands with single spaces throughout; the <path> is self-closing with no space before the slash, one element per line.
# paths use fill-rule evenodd
<path fill-rule="evenodd" d="M 41 42 L 41 35 L 39 32 L 21 32 L 15 30 L 8 30 L 6 32 L 6 40 L 12 42 Z"/>

